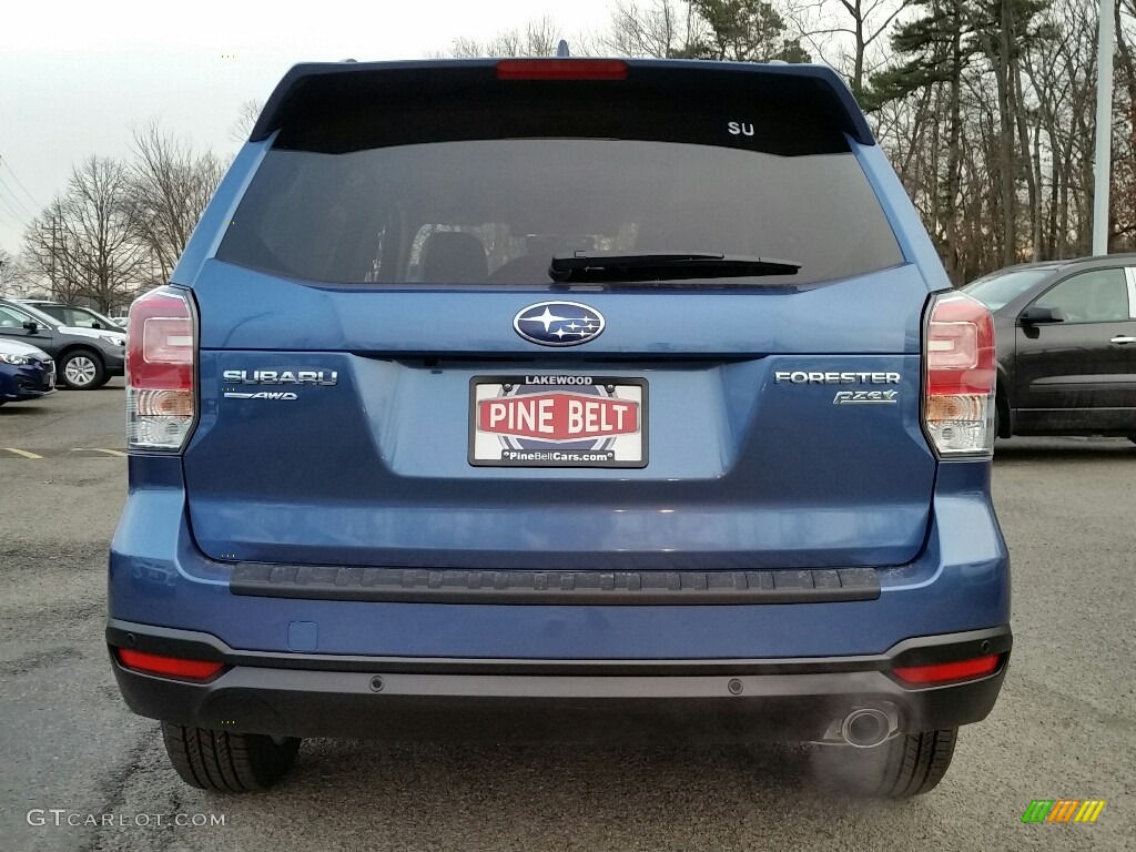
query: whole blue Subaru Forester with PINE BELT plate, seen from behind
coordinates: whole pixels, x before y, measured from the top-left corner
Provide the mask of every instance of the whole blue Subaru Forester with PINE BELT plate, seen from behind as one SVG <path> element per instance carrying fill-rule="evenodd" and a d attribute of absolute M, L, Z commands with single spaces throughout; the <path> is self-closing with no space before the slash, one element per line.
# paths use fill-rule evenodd
<path fill-rule="evenodd" d="M 198 787 L 772 738 L 902 797 L 1002 685 L 991 315 L 827 68 L 296 66 L 127 374 L 107 641 Z"/>

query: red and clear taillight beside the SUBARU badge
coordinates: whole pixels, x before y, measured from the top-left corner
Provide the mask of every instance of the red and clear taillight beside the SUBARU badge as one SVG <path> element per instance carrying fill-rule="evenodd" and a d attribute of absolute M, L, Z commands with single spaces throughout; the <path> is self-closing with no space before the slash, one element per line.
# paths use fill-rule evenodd
<path fill-rule="evenodd" d="M 177 452 L 197 414 L 197 331 L 189 294 L 158 287 L 131 306 L 126 332 L 126 446 Z"/>

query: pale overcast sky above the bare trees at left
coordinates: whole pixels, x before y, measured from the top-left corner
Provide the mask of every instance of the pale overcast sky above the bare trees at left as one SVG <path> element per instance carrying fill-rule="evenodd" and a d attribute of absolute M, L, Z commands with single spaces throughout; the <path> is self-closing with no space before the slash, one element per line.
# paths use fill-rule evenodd
<path fill-rule="evenodd" d="M 8 0 L 0 11 L 0 249 L 91 153 L 150 119 L 223 156 L 240 106 L 304 60 L 420 58 L 550 15 L 603 30 L 611 0 Z M 232 58 L 225 58 L 232 57 Z M 9 170 L 9 168 L 11 170 Z M 26 189 L 26 193 L 24 189 Z"/>

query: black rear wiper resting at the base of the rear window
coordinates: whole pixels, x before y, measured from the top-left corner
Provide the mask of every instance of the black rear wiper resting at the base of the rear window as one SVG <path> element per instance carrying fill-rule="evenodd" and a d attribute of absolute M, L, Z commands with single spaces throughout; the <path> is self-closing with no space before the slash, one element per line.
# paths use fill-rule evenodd
<path fill-rule="evenodd" d="M 688 278 L 743 278 L 760 275 L 796 275 L 801 265 L 792 260 L 755 258 L 745 254 L 657 251 L 628 252 L 577 251 L 553 254 L 549 277 L 557 282 L 643 282 Z"/>

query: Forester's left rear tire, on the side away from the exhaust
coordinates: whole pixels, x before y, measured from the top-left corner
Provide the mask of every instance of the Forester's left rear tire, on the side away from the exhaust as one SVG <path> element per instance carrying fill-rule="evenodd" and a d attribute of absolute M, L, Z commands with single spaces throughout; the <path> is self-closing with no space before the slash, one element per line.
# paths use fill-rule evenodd
<path fill-rule="evenodd" d="M 169 762 L 186 784 L 215 793 L 268 790 L 284 777 L 300 751 L 294 737 L 237 734 L 161 724 Z"/>

